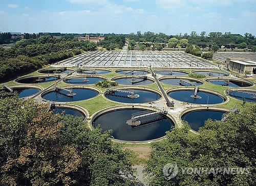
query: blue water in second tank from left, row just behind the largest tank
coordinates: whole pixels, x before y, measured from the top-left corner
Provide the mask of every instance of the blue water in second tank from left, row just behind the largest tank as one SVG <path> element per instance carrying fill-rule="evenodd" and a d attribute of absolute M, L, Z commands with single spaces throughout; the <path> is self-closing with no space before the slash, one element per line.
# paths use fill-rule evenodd
<path fill-rule="evenodd" d="M 87 100 L 97 96 L 99 93 L 95 90 L 91 89 L 83 89 L 83 88 L 69 88 L 72 89 L 75 96 L 69 97 L 66 96 L 69 92 L 65 90 L 59 91 L 52 91 L 48 94 L 42 96 L 42 98 L 50 101 L 58 101 L 58 102 L 73 102 L 73 101 L 80 101 L 80 100 Z"/>

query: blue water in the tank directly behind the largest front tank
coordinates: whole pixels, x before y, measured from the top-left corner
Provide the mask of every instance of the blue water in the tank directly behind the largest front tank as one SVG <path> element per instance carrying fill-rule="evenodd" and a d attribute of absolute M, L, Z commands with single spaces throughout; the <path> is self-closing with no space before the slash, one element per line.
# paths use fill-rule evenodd
<path fill-rule="evenodd" d="M 159 94 L 156 94 L 154 92 L 147 91 L 147 90 L 127 89 L 126 91 L 134 91 L 134 94 L 138 94 L 139 97 L 131 99 L 127 97 L 127 95 L 129 94 L 124 92 L 115 92 L 115 94 L 105 94 L 105 97 L 110 100 L 118 101 L 122 103 L 146 103 L 146 102 L 156 101 L 161 98 Z"/>

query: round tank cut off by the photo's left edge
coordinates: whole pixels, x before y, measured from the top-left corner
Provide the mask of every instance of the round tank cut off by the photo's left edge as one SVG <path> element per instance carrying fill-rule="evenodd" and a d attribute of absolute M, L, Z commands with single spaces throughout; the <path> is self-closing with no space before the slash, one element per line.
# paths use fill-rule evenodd
<path fill-rule="evenodd" d="M 14 95 L 14 92 L 17 92 L 19 98 L 24 98 L 28 96 L 32 96 L 40 91 L 39 87 L 22 87 L 22 86 L 10 86 L 13 89 L 13 92 L 10 92 L 8 89 L 2 89 L 8 92 L 9 95 Z"/>

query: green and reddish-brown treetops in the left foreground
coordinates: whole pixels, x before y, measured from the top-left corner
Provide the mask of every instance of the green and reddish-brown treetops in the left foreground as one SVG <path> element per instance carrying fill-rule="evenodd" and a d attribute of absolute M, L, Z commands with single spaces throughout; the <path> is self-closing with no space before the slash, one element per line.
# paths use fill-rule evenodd
<path fill-rule="evenodd" d="M 90 130 L 81 117 L 48 112 L 0 92 L 0 185 L 130 185 L 129 150 L 111 131 Z"/>

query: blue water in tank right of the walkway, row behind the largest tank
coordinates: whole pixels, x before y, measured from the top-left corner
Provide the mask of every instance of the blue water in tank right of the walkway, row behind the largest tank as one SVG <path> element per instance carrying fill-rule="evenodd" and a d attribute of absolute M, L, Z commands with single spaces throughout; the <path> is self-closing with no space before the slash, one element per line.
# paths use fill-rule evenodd
<path fill-rule="evenodd" d="M 194 95 L 193 90 L 176 90 L 168 93 L 169 97 L 187 103 L 207 104 L 208 102 L 208 104 L 217 104 L 224 102 L 224 99 L 220 96 L 210 94 L 207 92 L 202 92 L 200 90 L 197 94 L 201 97 L 200 99 L 191 98 L 190 95 Z"/>

